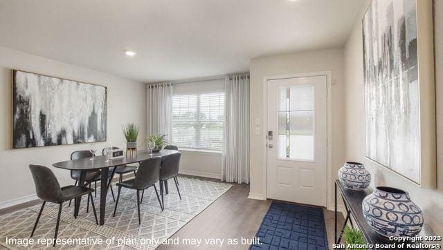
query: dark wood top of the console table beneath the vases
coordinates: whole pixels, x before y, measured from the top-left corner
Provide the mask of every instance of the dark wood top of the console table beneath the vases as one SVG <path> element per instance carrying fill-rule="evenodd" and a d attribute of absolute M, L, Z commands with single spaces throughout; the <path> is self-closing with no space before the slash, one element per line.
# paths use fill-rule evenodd
<path fill-rule="evenodd" d="M 350 210 L 352 214 L 352 218 L 354 219 L 353 222 L 356 222 L 357 226 L 359 227 L 360 231 L 365 236 L 366 241 L 368 244 L 392 244 L 392 243 L 399 243 L 397 241 L 389 240 L 389 238 L 379 235 L 379 233 L 375 232 L 374 229 L 366 222 L 365 218 L 363 217 L 363 209 L 361 208 L 361 202 L 363 202 L 363 199 L 372 193 L 372 189 L 366 188 L 362 191 L 354 191 L 350 189 L 346 189 L 343 184 L 339 180 L 335 180 L 337 184 L 337 188 L 342 193 L 342 198 L 347 204 L 347 208 Z M 409 242 L 406 241 L 406 243 L 411 244 L 419 244 L 419 242 Z M 413 248 L 413 249 L 424 249 L 424 248 Z"/>

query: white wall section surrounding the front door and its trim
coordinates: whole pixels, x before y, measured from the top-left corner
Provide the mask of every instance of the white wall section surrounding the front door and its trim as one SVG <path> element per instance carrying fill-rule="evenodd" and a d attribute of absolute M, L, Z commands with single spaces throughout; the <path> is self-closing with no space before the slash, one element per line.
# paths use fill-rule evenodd
<path fill-rule="evenodd" d="M 266 198 L 264 193 L 262 155 L 266 140 L 263 134 L 255 135 L 255 119 L 263 124 L 263 77 L 294 73 L 332 71 L 332 177 L 336 179 L 338 169 L 345 160 L 344 143 L 344 84 L 343 50 L 329 49 L 300 52 L 287 55 L 260 57 L 251 61 L 251 198 Z M 260 127 L 261 132 L 266 130 Z M 326 166 L 325 166 L 326 171 Z M 329 202 L 333 186 L 328 187 Z"/>

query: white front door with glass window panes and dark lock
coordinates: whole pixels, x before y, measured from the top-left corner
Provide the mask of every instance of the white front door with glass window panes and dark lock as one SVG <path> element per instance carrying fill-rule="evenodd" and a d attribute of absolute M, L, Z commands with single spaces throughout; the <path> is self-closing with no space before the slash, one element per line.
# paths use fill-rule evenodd
<path fill-rule="evenodd" d="M 267 81 L 267 197 L 326 206 L 327 77 Z"/>

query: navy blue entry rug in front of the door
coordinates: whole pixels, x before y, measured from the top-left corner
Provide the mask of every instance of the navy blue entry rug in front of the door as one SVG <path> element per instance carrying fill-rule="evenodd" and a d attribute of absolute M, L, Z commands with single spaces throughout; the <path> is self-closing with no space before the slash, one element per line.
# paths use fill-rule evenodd
<path fill-rule="evenodd" d="M 272 202 L 255 236 L 251 250 L 328 249 L 323 209 L 311 206 Z"/>

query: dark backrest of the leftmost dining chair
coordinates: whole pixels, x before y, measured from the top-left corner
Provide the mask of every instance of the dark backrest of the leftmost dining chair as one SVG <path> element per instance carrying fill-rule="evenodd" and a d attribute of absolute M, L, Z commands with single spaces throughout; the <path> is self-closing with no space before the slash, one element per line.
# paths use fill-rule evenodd
<path fill-rule="evenodd" d="M 39 165 L 29 165 L 29 169 L 33 175 L 37 196 L 46 202 L 62 202 L 62 189 L 53 171 Z"/>

